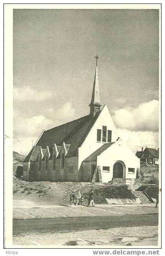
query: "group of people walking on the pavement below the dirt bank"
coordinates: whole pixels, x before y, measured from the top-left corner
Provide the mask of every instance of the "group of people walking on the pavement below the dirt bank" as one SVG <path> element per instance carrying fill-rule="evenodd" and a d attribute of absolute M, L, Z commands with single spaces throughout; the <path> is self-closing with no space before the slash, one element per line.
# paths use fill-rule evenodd
<path fill-rule="evenodd" d="M 91 206 L 95 206 L 95 203 L 94 203 L 94 196 L 95 196 L 95 193 L 94 191 L 91 189 L 89 191 L 89 199 L 88 199 L 88 207 L 91 207 Z M 80 206 L 83 206 L 83 201 L 84 201 L 84 197 L 83 195 L 81 195 L 80 193 L 80 190 L 77 191 L 77 195 L 75 196 L 75 192 L 72 191 L 72 193 L 70 194 L 70 206 L 74 206 L 74 205 L 80 205 Z"/>

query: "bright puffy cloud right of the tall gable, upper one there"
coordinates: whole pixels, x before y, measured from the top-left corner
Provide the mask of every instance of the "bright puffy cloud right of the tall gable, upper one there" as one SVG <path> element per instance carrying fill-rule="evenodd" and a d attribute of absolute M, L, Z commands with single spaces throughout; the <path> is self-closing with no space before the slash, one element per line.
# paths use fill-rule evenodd
<path fill-rule="evenodd" d="M 137 108 L 116 110 L 113 120 L 120 129 L 158 132 L 158 100 L 141 103 Z"/>

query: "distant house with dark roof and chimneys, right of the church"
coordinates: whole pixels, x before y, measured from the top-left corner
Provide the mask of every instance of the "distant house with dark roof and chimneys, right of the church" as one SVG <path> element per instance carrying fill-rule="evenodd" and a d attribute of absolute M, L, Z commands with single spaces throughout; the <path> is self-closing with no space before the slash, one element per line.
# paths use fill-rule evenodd
<path fill-rule="evenodd" d="M 136 156 L 140 158 L 140 162 L 147 162 L 149 164 L 159 164 L 159 149 L 151 149 L 147 147 L 143 151 L 137 151 Z"/>

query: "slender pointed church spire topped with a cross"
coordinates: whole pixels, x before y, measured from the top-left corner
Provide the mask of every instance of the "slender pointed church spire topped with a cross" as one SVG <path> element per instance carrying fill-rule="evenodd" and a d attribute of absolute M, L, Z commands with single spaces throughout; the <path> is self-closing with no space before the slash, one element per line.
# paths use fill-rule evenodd
<path fill-rule="evenodd" d="M 95 79 L 93 83 L 93 92 L 91 97 L 91 103 L 90 106 L 90 115 L 94 117 L 96 112 L 100 111 L 100 97 L 99 97 L 99 88 L 98 88 L 98 71 L 97 71 L 97 60 L 99 57 L 96 55 L 96 70 L 95 70 Z"/>

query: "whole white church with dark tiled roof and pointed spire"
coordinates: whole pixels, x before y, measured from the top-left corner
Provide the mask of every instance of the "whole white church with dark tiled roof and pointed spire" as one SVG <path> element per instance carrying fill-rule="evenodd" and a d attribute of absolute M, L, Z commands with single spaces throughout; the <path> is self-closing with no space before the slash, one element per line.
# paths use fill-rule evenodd
<path fill-rule="evenodd" d="M 97 168 L 102 182 L 138 176 L 140 159 L 117 137 L 107 106 L 101 109 L 97 65 L 89 106 L 89 115 L 42 133 L 25 158 L 25 180 L 89 182 Z"/>

